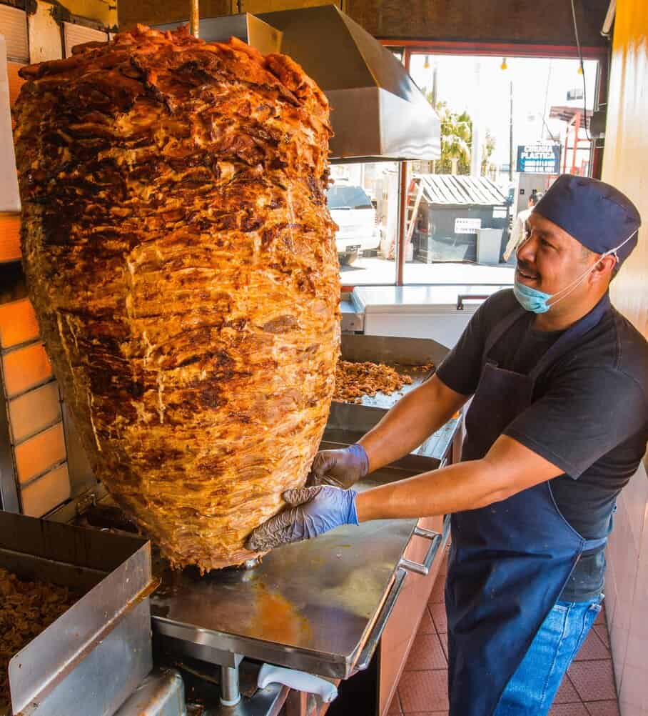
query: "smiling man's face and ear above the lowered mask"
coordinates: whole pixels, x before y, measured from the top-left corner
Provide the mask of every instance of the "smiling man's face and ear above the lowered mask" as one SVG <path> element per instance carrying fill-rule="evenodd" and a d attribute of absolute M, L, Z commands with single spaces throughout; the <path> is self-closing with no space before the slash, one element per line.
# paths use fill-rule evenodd
<path fill-rule="evenodd" d="M 517 252 L 516 279 L 546 294 L 556 294 L 569 286 L 599 258 L 599 254 L 585 251 L 571 234 L 536 211 L 526 221 L 524 236 Z M 607 279 L 609 282 L 612 266 L 614 259 L 611 256 L 597 264 L 595 270 L 570 294 L 571 301 L 578 301 L 598 281 Z M 566 299 L 565 303 L 568 301 Z"/>

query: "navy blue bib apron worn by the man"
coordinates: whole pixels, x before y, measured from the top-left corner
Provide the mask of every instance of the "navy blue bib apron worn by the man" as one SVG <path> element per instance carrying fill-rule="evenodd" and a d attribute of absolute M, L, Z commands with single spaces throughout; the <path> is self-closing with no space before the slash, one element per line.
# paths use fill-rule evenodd
<path fill-rule="evenodd" d="M 609 296 L 570 326 L 528 375 L 489 360 L 496 342 L 524 316 L 513 311 L 491 332 L 466 415 L 461 460 L 479 460 L 533 402 L 534 384 L 610 309 Z M 446 581 L 450 716 L 491 716 L 506 684 L 569 580 L 585 540 L 559 512 L 549 482 L 451 517 Z"/>

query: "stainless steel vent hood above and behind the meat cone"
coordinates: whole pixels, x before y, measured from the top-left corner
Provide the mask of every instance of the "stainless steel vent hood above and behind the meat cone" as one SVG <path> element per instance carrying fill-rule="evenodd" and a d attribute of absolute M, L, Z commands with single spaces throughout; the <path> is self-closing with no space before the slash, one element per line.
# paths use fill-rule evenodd
<path fill-rule="evenodd" d="M 299 62 L 328 97 L 335 132 L 331 160 L 441 156 L 441 122 L 421 90 L 388 49 L 335 5 L 256 17 L 280 31 L 273 38 L 280 43 L 280 52 Z M 223 42 L 235 35 L 256 46 L 253 25 L 245 14 L 202 19 L 200 37 Z"/>

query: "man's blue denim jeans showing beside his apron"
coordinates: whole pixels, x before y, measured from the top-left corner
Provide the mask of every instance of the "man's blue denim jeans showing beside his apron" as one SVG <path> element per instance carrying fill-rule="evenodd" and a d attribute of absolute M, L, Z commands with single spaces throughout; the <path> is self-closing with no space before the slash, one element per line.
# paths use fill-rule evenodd
<path fill-rule="evenodd" d="M 542 622 L 493 716 L 545 716 L 560 682 L 601 611 L 603 595 L 558 601 Z"/>

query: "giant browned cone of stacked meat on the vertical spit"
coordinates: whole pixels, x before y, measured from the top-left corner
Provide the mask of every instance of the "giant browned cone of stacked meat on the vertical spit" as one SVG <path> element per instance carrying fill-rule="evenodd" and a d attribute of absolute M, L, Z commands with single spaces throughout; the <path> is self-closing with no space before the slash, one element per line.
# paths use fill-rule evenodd
<path fill-rule="evenodd" d="M 29 296 L 95 474 L 174 566 L 257 556 L 335 382 L 328 100 L 292 59 L 137 26 L 23 67 Z"/>

